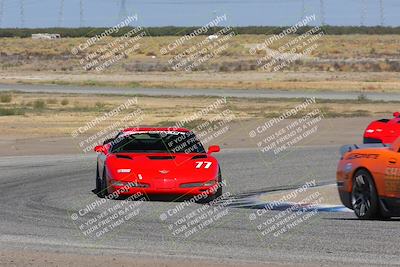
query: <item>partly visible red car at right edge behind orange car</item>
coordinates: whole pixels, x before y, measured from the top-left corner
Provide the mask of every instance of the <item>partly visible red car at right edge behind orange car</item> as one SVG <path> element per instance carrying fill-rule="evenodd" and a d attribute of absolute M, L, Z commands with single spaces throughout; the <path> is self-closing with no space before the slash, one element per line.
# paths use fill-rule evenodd
<path fill-rule="evenodd" d="M 364 144 L 391 144 L 400 136 L 400 112 L 393 113 L 392 119 L 371 122 L 364 132 Z"/>

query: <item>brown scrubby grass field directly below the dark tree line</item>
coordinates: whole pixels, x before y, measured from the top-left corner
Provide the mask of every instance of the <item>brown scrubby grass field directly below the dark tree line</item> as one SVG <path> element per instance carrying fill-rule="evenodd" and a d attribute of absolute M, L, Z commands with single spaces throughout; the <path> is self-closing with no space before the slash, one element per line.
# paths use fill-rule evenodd
<path fill-rule="evenodd" d="M 243 71 L 257 69 L 256 60 L 265 55 L 258 51 L 250 55 L 249 46 L 262 43 L 266 35 L 238 35 L 228 40 L 229 47 L 222 51 L 220 57 L 207 61 L 199 70 Z M 169 71 L 168 59 L 182 53 L 191 46 L 201 42 L 205 37 L 195 37 L 166 55 L 160 49 L 173 43 L 174 36 L 145 37 L 139 41 L 140 48 L 128 57 L 114 64 L 109 71 Z M 295 36 L 288 36 L 273 43 L 270 48 L 278 49 Z M 34 70 L 83 72 L 79 59 L 96 51 L 113 41 L 105 38 L 96 45 L 86 49 L 83 54 L 73 56 L 71 49 L 86 41 L 85 38 L 66 38 L 61 40 L 32 40 L 29 38 L 1 38 L 2 70 Z M 317 41 L 318 48 L 313 57 L 321 59 L 316 62 L 291 64 L 290 70 L 326 70 L 326 71 L 398 71 L 398 65 L 388 62 L 400 59 L 399 35 L 335 35 L 323 36 Z M 155 58 L 154 58 L 155 57 Z M 360 62 L 373 59 L 374 61 Z M 328 61 L 326 61 L 328 60 Z M 347 61 L 344 61 L 347 60 Z M 60 64 L 62 62 L 62 64 Z"/>

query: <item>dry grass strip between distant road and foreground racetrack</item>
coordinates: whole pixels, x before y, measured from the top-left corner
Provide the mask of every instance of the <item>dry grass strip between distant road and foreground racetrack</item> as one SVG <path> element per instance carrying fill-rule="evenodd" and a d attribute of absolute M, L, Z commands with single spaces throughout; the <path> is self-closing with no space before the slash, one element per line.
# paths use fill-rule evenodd
<path fill-rule="evenodd" d="M 46 99 L 57 100 L 47 104 Z M 65 104 L 67 100 L 67 104 Z M 127 114 L 140 108 L 144 114 L 141 125 L 173 125 L 187 116 L 202 110 L 215 102 L 216 98 L 204 97 L 138 97 L 138 105 L 123 110 L 112 119 L 99 123 L 90 132 L 107 128 Z M 64 102 L 63 102 L 64 101 Z M 126 96 L 84 96 L 67 94 L 25 94 L 12 93 L 10 103 L 0 104 L 0 132 L 4 136 L 70 136 L 70 134 L 87 122 L 101 116 L 127 101 Z M 212 111 L 192 124 L 210 120 L 221 110 L 229 109 L 236 121 L 256 121 L 280 115 L 293 108 L 301 99 L 228 99 L 227 105 Z M 35 104 L 36 103 L 36 104 Z M 39 103 L 39 104 L 38 104 Z M 64 104 L 63 104 L 64 103 Z M 311 108 L 319 108 L 326 118 L 382 116 L 388 117 L 397 110 L 398 102 L 376 103 L 369 101 L 323 101 Z"/>

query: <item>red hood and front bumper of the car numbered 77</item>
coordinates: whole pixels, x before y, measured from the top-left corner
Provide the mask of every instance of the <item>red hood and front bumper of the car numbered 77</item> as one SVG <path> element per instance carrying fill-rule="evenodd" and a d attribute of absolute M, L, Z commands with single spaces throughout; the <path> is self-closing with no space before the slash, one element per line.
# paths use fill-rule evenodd
<path fill-rule="evenodd" d="M 205 183 L 218 179 L 218 162 L 209 155 L 206 158 L 192 159 L 199 154 L 154 154 L 154 153 L 124 153 L 132 159 L 117 158 L 116 154 L 108 155 L 106 168 L 110 189 L 113 192 L 120 186 L 114 186 L 114 181 L 132 182 L 147 185 L 147 188 L 130 188 L 128 194 L 141 191 L 147 194 L 191 194 L 196 195 L 209 187 L 182 188 L 182 184 Z M 157 159 L 171 157 L 171 159 Z M 156 158 L 156 159 L 154 159 Z M 199 162 L 203 163 L 196 168 Z M 118 173 L 119 169 L 131 169 L 130 173 Z"/>

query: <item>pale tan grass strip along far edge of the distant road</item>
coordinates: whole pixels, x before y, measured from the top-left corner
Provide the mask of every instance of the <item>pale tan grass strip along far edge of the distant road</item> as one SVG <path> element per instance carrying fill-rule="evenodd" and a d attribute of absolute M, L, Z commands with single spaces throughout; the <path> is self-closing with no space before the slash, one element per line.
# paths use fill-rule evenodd
<path fill-rule="evenodd" d="M 146 72 L 60 74 L 24 72 L 0 74 L 2 83 L 58 84 L 126 88 L 227 88 L 311 91 L 399 92 L 395 72 Z"/>

